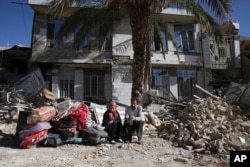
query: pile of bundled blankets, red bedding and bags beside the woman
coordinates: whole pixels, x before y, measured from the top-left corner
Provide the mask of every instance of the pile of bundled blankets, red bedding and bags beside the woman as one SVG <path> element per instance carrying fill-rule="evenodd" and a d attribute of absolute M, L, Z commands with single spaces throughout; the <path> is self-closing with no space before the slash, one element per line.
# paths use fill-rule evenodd
<path fill-rule="evenodd" d="M 93 125 L 104 131 L 99 124 L 90 120 L 90 114 L 85 103 L 71 99 L 34 108 L 27 117 L 27 126 L 18 133 L 21 139 L 19 146 L 29 148 L 38 144 L 52 147 L 65 143 L 81 144 L 84 142 L 81 131 L 93 128 Z"/>

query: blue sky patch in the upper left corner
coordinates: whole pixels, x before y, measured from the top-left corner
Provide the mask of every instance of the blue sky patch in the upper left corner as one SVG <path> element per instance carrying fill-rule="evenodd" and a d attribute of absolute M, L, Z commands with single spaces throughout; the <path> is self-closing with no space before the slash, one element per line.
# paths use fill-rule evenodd
<path fill-rule="evenodd" d="M 0 46 L 30 46 L 34 12 L 27 2 L 0 0 Z"/>

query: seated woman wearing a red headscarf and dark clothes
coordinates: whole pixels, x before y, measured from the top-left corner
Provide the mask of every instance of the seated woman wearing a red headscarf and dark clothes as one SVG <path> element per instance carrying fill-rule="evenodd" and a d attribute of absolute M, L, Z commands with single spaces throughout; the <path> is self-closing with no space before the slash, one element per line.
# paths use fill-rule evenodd
<path fill-rule="evenodd" d="M 109 134 L 109 142 L 115 144 L 116 141 L 123 143 L 121 139 L 122 134 L 122 120 L 119 112 L 117 111 L 117 104 L 114 101 L 109 102 L 108 110 L 103 114 L 102 126 Z"/>

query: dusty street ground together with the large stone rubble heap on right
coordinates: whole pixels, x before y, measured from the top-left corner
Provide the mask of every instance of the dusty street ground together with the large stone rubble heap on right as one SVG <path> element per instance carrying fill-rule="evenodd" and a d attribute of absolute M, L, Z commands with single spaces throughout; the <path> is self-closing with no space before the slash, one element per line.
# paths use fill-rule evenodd
<path fill-rule="evenodd" d="M 249 150 L 249 111 L 220 98 L 185 108 L 146 111 L 143 144 L 65 144 L 20 149 L 16 123 L 0 123 L 0 166 L 229 166 L 230 151 Z M 136 139 L 134 139 L 136 141 Z"/>

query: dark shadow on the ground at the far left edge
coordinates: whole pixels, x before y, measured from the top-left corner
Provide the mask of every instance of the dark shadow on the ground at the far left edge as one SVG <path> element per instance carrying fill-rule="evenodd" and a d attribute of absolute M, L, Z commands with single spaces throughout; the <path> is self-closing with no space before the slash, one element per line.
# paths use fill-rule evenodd
<path fill-rule="evenodd" d="M 0 132 L 0 147 L 9 147 L 9 148 L 20 148 L 19 144 L 21 143 L 21 139 L 18 135 L 15 134 L 6 134 Z"/>

